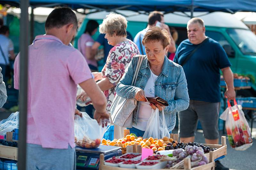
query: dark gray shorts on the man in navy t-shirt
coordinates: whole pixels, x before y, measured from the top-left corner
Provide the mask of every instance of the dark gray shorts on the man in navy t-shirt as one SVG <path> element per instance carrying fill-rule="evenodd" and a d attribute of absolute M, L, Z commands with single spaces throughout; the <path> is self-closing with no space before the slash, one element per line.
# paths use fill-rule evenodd
<path fill-rule="evenodd" d="M 210 103 L 190 100 L 188 109 L 178 113 L 180 137 L 195 136 L 199 119 L 204 131 L 204 137 L 210 140 L 218 139 L 219 113 L 220 102 Z"/>

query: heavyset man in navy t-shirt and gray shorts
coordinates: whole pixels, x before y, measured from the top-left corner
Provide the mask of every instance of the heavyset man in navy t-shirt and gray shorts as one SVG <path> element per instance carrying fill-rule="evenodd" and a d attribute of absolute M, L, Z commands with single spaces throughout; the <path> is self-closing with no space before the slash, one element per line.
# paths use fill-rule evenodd
<path fill-rule="evenodd" d="M 204 21 L 201 18 L 190 19 L 187 32 L 188 39 L 180 43 L 173 60 L 182 64 L 190 98 L 188 109 L 179 112 L 180 141 L 195 140 L 199 119 L 204 131 L 205 143 L 219 144 L 220 70 L 227 84 L 225 97 L 233 100 L 236 93 L 231 64 L 221 45 L 205 36 Z M 184 62 L 198 46 L 194 54 Z"/>

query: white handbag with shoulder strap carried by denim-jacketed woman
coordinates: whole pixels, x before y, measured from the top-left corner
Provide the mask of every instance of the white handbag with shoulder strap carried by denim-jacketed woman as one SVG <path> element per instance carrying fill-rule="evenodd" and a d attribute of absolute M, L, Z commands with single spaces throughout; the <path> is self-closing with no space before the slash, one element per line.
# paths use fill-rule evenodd
<path fill-rule="evenodd" d="M 142 61 L 143 61 L 143 55 L 140 55 L 135 73 L 133 75 L 132 85 L 135 85 L 136 83 L 136 79 L 138 77 Z M 135 109 L 136 105 L 137 105 L 137 100 L 126 99 L 116 94 L 113 100 L 113 103 L 110 106 L 110 115 L 113 123 L 115 125 L 118 125 L 124 128 L 132 128 L 132 118 L 133 118 L 132 112 Z"/>

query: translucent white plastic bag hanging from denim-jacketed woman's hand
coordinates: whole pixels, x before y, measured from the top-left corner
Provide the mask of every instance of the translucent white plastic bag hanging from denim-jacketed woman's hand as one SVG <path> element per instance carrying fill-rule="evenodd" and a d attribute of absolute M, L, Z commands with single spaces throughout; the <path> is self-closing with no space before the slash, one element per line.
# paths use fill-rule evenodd
<path fill-rule="evenodd" d="M 163 137 L 170 138 L 170 133 L 167 129 L 167 125 L 165 122 L 164 111 L 161 114 L 162 118 L 159 117 L 159 109 L 152 109 L 152 113 L 150 118 L 148 119 L 147 128 L 143 135 L 143 138 L 158 138 L 161 139 Z"/>

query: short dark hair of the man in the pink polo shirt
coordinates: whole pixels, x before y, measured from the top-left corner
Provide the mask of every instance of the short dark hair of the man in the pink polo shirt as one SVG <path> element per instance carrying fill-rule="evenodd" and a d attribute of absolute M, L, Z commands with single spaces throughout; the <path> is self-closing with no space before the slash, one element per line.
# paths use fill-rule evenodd
<path fill-rule="evenodd" d="M 77 27 L 76 14 L 70 8 L 54 9 L 45 21 L 45 29 L 60 28 L 67 24 L 74 24 Z"/>

